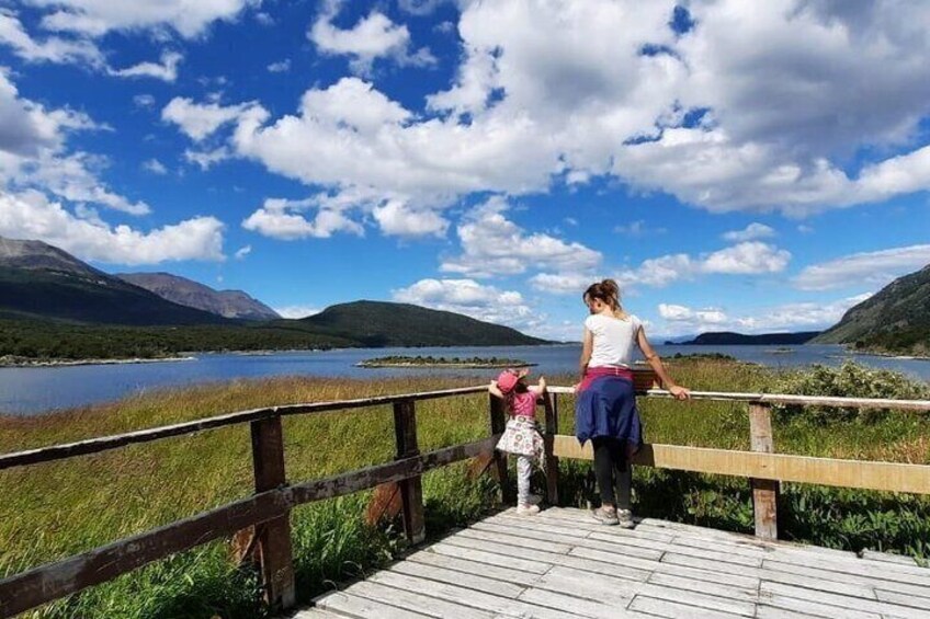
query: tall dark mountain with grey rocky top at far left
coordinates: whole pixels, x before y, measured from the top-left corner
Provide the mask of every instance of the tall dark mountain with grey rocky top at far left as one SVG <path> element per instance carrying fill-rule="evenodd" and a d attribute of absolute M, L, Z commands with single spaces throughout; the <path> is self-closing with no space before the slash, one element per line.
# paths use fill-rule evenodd
<path fill-rule="evenodd" d="M 179 306 L 41 241 L 0 237 L 0 312 L 110 324 L 212 324 Z"/>

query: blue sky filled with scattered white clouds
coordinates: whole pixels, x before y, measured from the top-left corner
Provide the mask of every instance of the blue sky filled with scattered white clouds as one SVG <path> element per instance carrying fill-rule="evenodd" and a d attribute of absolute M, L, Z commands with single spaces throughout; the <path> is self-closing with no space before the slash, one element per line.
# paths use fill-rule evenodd
<path fill-rule="evenodd" d="M 287 316 L 813 330 L 930 263 L 930 8 L 0 0 L 0 234 Z"/>

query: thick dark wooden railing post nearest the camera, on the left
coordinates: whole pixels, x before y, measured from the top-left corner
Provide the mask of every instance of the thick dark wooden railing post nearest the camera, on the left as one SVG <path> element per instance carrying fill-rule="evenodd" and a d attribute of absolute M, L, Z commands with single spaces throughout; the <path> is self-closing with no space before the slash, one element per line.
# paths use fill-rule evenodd
<path fill-rule="evenodd" d="M 256 492 L 284 485 L 284 433 L 281 417 L 253 421 L 251 429 Z M 274 608 L 293 607 L 296 597 L 291 552 L 291 514 L 258 525 L 256 536 L 265 601 Z"/>

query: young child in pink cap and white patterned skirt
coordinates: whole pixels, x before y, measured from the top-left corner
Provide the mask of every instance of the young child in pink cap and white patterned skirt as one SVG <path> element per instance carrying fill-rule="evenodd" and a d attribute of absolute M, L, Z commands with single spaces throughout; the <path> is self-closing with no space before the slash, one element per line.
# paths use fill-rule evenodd
<path fill-rule="evenodd" d="M 521 516 L 538 514 L 541 496 L 530 494 L 530 475 L 533 463 L 543 461 L 543 435 L 536 423 L 536 400 L 546 390 L 546 379 L 540 377 L 537 385 L 526 385 L 529 370 L 506 369 L 488 387 L 494 396 L 502 399 L 510 419 L 497 444 L 497 448 L 517 456 L 517 513 Z"/>

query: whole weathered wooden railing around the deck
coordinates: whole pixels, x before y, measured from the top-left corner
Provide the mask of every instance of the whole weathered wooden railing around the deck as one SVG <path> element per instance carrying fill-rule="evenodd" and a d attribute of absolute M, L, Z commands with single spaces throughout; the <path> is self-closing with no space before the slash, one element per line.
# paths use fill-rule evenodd
<path fill-rule="evenodd" d="M 668 398 L 653 389 L 651 371 L 635 371 L 637 394 Z M 266 601 L 290 608 L 295 603 L 291 550 L 291 511 L 302 504 L 341 496 L 383 483 L 397 483 L 402 502 L 404 529 L 410 543 L 426 537 L 421 475 L 438 467 L 485 456 L 492 458 L 500 480 L 502 501 L 513 500 L 508 483 L 507 458 L 494 447 L 503 431 L 506 414 L 501 402 L 490 398 L 490 436 L 481 440 L 445 447 L 428 454 L 419 451 L 416 402 L 486 392 L 486 387 L 446 389 L 273 406 L 218 415 L 170 426 L 92 438 L 14 454 L 0 455 L 0 470 L 50 462 L 88 454 L 99 454 L 126 445 L 148 443 L 172 436 L 250 424 L 256 492 L 248 498 L 228 503 L 195 516 L 95 548 L 88 552 L 48 563 L 0 581 L 0 617 L 12 617 L 42 604 L 112 580 L 121 574 L 219 538 L 251 531 L 256 555 L 262 572 Z M 590 445 L 581 447 L 574 436 L 558 434 L 558 397 L 571 393 L 565 387 L 551 387 L 544 398 L 546 440 L 546 490 L 548 501 L 558 503 L 558 458 L 591 459 Z M 756 512 L 756 535 L 778 537 L 778 495 L 780 481 L 816 483 L 882 491 L 930 494 L 930 466 L 864 462 L 829 458 L 779 455 L 772 440 L 773 403 L 819 404 L 848 408 L 888 408 L 930 410 L 930 401 L 874 400 L 855 398 L 814 398 L 762 393 L 693 392 L 695 400 L 747 402 L 750 420 L 750 451 L 707 449 L 676 445 L 646 445 L 634 463 L 667 469 L 750 478 Z M 365 469 L 326 479 L 288 483 L 285 474 L 284 416 L 392 405 L 396 436 L 396 459 Z"/>

